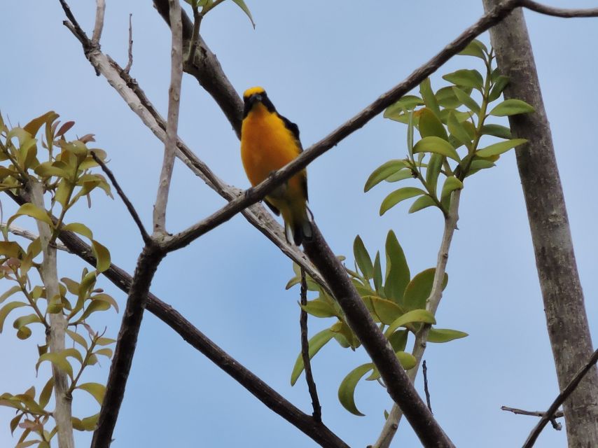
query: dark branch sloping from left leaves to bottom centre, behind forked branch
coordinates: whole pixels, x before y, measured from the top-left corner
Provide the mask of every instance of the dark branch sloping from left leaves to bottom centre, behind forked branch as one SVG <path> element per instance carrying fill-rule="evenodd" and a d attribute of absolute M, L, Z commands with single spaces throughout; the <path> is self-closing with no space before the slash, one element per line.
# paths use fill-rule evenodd
<path fill-rule="evenodd" d="M 5 193 L 20 205 L 25 204 L 26 202 L 25 198 L 22 196 L 13 195 L 11 192 Z M 54 216 L 52 216 L 51 219 L 53 222 L 57 221 L 57 218 Z M 93 267 L 97 265 L 97 260 L 91 246 L 76 234 L 63 231 L 60 232 L 58 238 L 60 238 L 62 243 L 64 243 L 64 246 L 66 246 L 71 253 L 74 253 Z M 107 279 L 124 293 L 128 294 L 131 290 L 132 276 L 117 265 L 112 263 L 106 271 L 102 272 L 102 275 L 106 276 Z M 258 400 L 263 402 L 264 405 L 279 414 L 279 416 L 293 426 L 303 431 L 305 435 L 311 437 L 322 447 L 349 448 L 349 445 L 340 440 L 340 438 L 324 424 L 317 423 L 312 416 L 301 412 L 300 409 L 274 391 L 274 389 L 253 374 L 253 372 L 214 344 L 214 342 L 182 316 L 179 311 L 176 311 L 176 309 L 169 304 L 162 302 L 162 300 L 152 293 L 148 293 L 147 296 L 147 309 L 181 335 L 188 344 L 195 347 L 195 349 L 204 354 L 204 356 L 209 358 L 209 360 L 251 392 Z"/>

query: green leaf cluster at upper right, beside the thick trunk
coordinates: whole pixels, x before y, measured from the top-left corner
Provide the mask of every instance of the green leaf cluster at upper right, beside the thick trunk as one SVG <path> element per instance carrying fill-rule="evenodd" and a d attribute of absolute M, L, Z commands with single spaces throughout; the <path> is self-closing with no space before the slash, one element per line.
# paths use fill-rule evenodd
<path fill-rule="evenodd" d="M 460 54 L 482 59 L 485 76 L 475 69 L 457 70 L 443 76 L 450 85 L 436 92 L 428 78 L 419 85 L 420 96 L 405 95 L 384 112 L 384 117 L 408 125 L 408 156 L 389 160 L 375 169 L 364 190 L 367 192 L 382 181 L 409 178 L 418 179 L 423 188 L 408 186 L 394 190 L 382 201 L 380 215 L 399 202 L 417 197 L 409 213 L 438 207 L 447 216 L 451 193 L 463 188 L 467 176 L 494 167 L 502 153 L 526 142 L 511 138 L 508 127 L 487 123 L 489 117 L 534 111 L 520 99 L 507 99 L 492 106 L 508 85 L 508 78 L 494 68 L 492 50 L 475 40 Z M 418 141 L 414 139 L 415 130 L 422 137 Z M 480 148 L 482 139 L 486 140 L 484 137 L 500 140 Z M 442 188 L 438 194 L 440 183 Z"/>

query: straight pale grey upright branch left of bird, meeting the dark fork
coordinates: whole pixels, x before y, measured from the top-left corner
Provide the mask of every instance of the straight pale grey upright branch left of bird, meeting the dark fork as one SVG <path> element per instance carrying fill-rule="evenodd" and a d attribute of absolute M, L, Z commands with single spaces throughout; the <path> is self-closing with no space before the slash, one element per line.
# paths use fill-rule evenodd
<path fill-rule="evenodd" d="M 158 195 L 153 206 L 153 232 L 166 232 L 166 206 L 174 168 L 176 138 L 179 129 L 179 105 L 181 104 L 181 82 L 183 79 L 183 25 L 181 24 L 181 4 L 179 0 L 169 0 L 170 23 L 172 29 L 172 50 L 170 67 L 170 87 L 168 90 L 168 122 L 164 144 L 164 160 L 158 184 Z"/>

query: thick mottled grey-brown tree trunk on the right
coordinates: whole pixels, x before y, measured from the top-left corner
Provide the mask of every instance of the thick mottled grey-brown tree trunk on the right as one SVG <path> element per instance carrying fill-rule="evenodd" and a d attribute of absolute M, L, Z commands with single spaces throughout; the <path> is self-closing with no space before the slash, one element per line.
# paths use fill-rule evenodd
<path fill-rule="evenodd" d="M 488 10 L 499 0 L 483 2 Z M 552 136 L 522 10 L 517 8 L 490 29 L 490 39 L 501 72 L 510 78 L 505 97 L 523 99 L 536 109 L 535 113 L 513 116 L 509 121 L 514 137 L 529 140 L 516 150 L 517 167 L 527 205 L 548 335 L 562 390 L 592 356 L 592 339 Z M 547 391 L 547 398 L 552 395 L 555 394 Z M 598 441 L 596 367 L 563 406 L 569 447 L 595 447 Z"/>

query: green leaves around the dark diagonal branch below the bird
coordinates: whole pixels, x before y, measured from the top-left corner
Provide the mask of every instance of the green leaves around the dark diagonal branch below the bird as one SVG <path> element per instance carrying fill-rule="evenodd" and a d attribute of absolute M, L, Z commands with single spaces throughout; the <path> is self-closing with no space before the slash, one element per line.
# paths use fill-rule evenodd
<path fill-rule="evenodd" d="M 403 248 L 392 231 L 388 233 L 385 244 L 384 274 L 382 274 L 380 251 L 372 261 L 359 235 L 354 241 L 353 251 L 355 270 L 347 269 L 347 272 L 356 290 L 374 321 L 379 323 L 384 336 L 389 339 L 401 365 L 407 370 L 415 367 L 415 357 L 405 352 L 405 346 L 410 332 L 415 335 L 424 323 L 436 324 L 434 316 L 426 311 L 426 300 L 432 290 L 436 269 L 425 269 L 411 277 Z M 294 270 L 295 276 L 288 282 L 287 288 L 300 283 L 300 269 L 295 265 Z M 447 281 L 448 276 L 445 274 L 443 288 Z M 307 276 L 307 288 L 316 291 L 318 296 L 308 301 L 303 309 L 312 316 L 337 319 L 330 328 L 322 330 L 310 339 L 310 358 L 332 339 L 344 348 L 353 350 L 358 348 L 359 339 L 349 327 L 338 303 L 309 276 Z M 465 336 L 466 333 L 457 330 L 431 328 L 429 342 L 448 342 Z M 291 384 L 295 384 L 303 369 L 303 358 L 299 355 L 291 373 Z M 375 365 L 366 363 L 349 372 L 339 386 L 338 398 L 342 406 L 352 414 L 363 415 L 355 405 L 354 392 L 356 385 L 368 373 L 370 375 L 366 377 L 367 381 L 380 380 Z"/>

